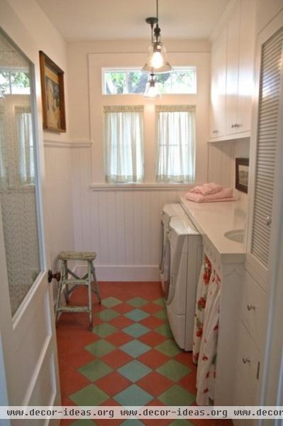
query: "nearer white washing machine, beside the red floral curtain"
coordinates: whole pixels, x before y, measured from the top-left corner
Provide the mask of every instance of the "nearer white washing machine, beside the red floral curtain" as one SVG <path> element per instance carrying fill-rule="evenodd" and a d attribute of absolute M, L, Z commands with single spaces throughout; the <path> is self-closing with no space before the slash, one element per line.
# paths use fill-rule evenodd
<path fill-rule="evenodd" d="M 169 283 L 165 297 L 168 321 L 178 346 L 192 351 L 203 245 L 201 234 L 189 217 L 172 217 L 165 251 L 164 273 Z"/>

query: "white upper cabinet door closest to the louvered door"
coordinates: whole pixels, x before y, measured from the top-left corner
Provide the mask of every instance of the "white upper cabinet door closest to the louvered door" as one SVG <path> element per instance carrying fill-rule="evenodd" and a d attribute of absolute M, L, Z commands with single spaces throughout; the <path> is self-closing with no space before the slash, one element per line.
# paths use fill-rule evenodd
<path fill-rule="evenodd" d="M 255 1 L 241 1 L 238 108 L 235 131 L 250 131 L 255 53 Z"/>

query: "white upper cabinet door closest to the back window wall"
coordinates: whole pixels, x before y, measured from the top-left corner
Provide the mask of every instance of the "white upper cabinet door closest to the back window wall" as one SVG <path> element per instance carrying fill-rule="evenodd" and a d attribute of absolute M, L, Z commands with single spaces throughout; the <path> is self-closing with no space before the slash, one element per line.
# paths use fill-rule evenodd
<path fill-rule="evenodd" d="M 225 134 L 226 48 L 225 28 L 211 50 L 211 138 Z"/>

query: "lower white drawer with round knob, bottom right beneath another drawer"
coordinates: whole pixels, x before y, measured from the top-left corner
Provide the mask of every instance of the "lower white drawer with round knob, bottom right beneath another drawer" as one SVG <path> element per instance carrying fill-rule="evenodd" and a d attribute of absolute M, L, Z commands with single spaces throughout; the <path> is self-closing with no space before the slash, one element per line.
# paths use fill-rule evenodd
<path fill-rule="evenodd" d="M 243 322 L 240 322 L 237 348 L 233 405 L 257 405 L 260 352 Z"/>

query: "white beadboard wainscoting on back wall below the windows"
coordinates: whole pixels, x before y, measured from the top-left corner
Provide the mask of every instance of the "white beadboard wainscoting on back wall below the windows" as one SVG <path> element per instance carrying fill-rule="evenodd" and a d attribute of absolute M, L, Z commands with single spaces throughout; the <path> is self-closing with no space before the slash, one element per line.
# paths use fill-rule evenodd
<path fill-rule="evenodd" d="M 160 212 L 190 185 L 90 185 L 90 149 L 72 149 L 75 249 L 96 251 L 98 280 L 159 280 Z"/>

